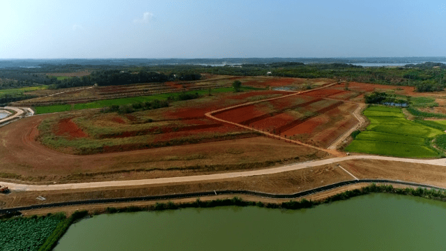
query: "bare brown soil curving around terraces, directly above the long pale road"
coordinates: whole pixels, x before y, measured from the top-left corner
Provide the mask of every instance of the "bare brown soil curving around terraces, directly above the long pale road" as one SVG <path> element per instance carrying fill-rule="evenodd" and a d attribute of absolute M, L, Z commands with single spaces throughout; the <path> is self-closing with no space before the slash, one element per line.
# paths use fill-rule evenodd
<path fill-rule="evenodd" d="M 60 153 L 66 142 L 61 142 L 63 144 L 56 151 L 36 141 L 36 137 L 42 135 L 38 130 L 40 123 L 52 117 L 60 119 L 57 115 L 32 116 L 0 128 L 1 178 L 34 183 L 159 178 L 256 169 L 326 155 L 315 149 L 267 137 L 121 153 L 70 155 Z M 126 123 L 132 123 L 125 116 L 120 118 Z M 73 121 L 76 121 L 75 117 Z"/>

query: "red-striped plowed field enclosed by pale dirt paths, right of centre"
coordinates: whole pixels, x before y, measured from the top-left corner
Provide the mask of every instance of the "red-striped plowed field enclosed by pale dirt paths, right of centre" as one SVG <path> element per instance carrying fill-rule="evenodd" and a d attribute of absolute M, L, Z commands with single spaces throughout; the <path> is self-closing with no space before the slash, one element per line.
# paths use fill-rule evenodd
<path fill-rule="evenodd" d="M 356 104 L 325 99 L 333 93 L 350 91 L 336 89 L 342 88 L 342 85 L 330 88 L 328 91 L 321 89 L 302 96 L 237 107 L 214 115 L 219 119 L 241 123 L 282 137 L 327 147 L 357 123 L 357 119 L 351 114 L 356 109 Z"/>

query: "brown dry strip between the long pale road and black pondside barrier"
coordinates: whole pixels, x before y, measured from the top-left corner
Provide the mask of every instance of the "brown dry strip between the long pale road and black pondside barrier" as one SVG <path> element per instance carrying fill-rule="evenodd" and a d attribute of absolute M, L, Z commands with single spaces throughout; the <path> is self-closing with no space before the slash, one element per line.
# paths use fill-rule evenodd
<path fill-rule="evenodd" d="M 54 203 L 82 199 L 166 195 L 182 192 L 212 190 L 254 190 L 270 193 L 295 193 L 350 179 L 351 176 L 348 176 L 348 174 L 339 169 L 339 167 L 336 167 L 335 165 L 325 165 L 280 174 L 232 178 L 217 182 L 150 185 L 141 187 L 131 186 L 125 188 L 99 188 L 91 190 L 61 190 L 42 192 L 14 191 L 9 195 L 0 195 L 0 200 L 6 203 L 3 206 L 6 208 L 43 203 L 36 199 L 38 196 L 43 196 L 47 199 L 44 203 Z"/>

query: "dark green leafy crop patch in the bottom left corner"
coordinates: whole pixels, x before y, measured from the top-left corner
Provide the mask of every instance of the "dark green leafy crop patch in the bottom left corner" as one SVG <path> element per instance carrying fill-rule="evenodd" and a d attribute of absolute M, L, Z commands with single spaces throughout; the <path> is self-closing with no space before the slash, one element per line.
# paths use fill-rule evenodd
<path fill-rule="evenodd" d="M 63 221 L 60 215 L 0 220 L 0 250 L 39 250 Z"/>

